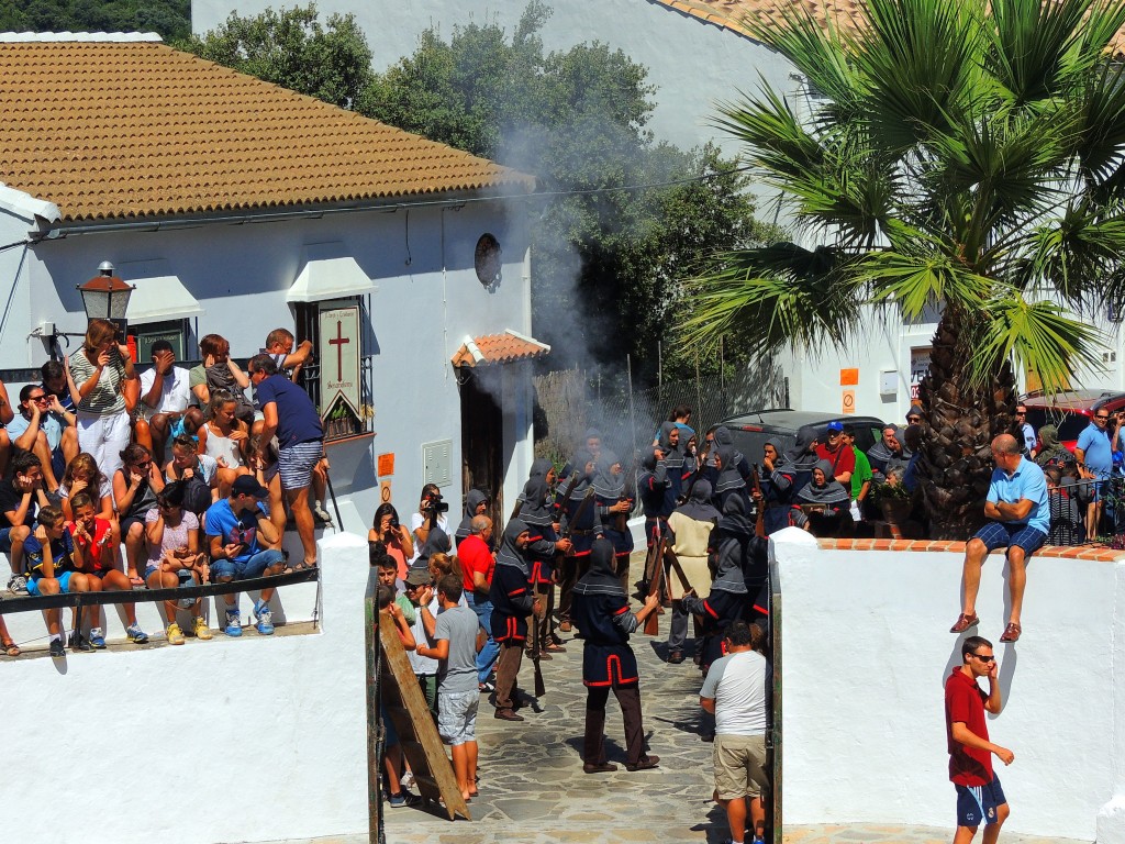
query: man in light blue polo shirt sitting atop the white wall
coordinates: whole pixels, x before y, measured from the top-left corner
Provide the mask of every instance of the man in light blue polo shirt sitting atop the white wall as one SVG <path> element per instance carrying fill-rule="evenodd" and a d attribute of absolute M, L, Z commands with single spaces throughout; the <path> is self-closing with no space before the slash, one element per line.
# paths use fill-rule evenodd
<path fill-rule="evenodd" d="M 1047 482 L 1043 469 L 1020 455 L 1020 443 L 1011 434 L 1000 434 L 992 440 L 992 483 L 984 501 L 984 515 L 989 521 L 976 531 L 965 547 L 965 594 L 961 616 L 950 632 L 961 634 L 975 627 L 976 590 L 981 583 L 981 566 L 989 551 L 1008 548 L 1011 590 L 1011 614 L 1000 641 L 1011 643 L 1023 631 L 1019 611 L 1024 603 L 1024 584 L 1027 580 L 1027 558 L 1043 545 L 1051 527 L 1051 508 L 1047 504 Z"/>

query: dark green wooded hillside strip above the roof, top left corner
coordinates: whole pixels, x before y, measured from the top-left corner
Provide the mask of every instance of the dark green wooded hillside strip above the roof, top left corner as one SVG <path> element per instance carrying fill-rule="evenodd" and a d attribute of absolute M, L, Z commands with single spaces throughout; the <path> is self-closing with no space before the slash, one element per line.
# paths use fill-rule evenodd
<path fill-rule="evenodd" d="M 0 32 L 191 34 L 191 0 L 0 0 Z"/>

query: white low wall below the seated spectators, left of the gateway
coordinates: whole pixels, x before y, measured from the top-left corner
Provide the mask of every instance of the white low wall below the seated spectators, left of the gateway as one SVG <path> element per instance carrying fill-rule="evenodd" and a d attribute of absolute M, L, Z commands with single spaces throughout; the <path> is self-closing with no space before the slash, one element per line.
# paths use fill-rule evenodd
<path fill-rule="evenodd" d="M 366 830 L 367 556 L 354 535 L 321 540 L 318 634 L 251 629 L 182 647 L 0 662 L 0 842 L 200 844 Z M 315 591 L 302 594 L 281 591 L 282 603 L 302 604 L 290 617 L 310 613 Z M 245 595 L 242 604 L 248 612 Z M 38 613 L 20 614 L 42 629 Z"/>

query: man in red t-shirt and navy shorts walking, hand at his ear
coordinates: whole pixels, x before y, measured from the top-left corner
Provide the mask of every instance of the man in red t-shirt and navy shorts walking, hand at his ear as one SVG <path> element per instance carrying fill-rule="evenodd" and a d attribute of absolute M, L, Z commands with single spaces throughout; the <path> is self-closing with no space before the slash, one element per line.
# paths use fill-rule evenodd
<path fill-rule="evenodd" d="M 988 740 L 984 710 L 999 715 L 1001 708 L 998 665 L 992 643 L 970 636 L 961 645 L 962 664 L 945 681 L 945 731 L 950 744 L 950 780 L 957 789 L 957 832 L 953 844 L 969 844 L 984 821 L 984 844 L 996 844 L 1000 826 L 1008 818 L 1008 800 L 1000 779 L 992 772 L 992 754 L 1006 765 L 1011 751 Z M 976 684 L 988 677 L 989 693 Z"/>

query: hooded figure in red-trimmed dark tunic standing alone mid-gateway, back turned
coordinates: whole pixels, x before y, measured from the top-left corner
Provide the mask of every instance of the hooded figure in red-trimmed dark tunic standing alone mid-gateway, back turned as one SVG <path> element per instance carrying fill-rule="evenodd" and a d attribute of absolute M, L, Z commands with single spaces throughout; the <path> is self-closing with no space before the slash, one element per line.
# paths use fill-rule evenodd
<path fill-rule="evenodd" d="M 583 770 L 586 773 L 615 771 L 605 758 L 605 701 L 610 690 L 618 699 L 624 720 L 626 767 L 630 771 L 656 767 L 658 756 L 645 754 L 645 726 L 640 709 L 637 657 L 629 647 L 629 634 L 657 608 L 652 595 L 645 609 L 629 611 L 629 596 L 614 571 L 613 546 L 594 541 L 590 569 L 574 587 L 574 623 L 583 640 L 582 682 L 586 686 L 586 730 L 583 739 Z"/>

